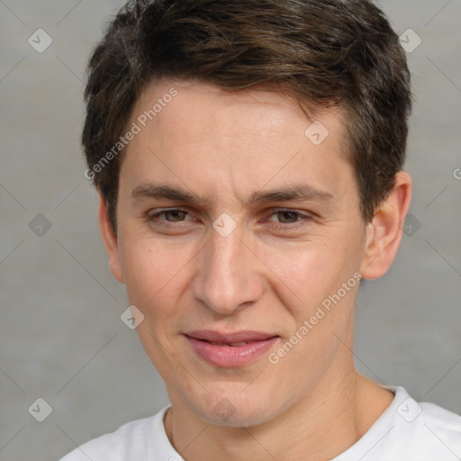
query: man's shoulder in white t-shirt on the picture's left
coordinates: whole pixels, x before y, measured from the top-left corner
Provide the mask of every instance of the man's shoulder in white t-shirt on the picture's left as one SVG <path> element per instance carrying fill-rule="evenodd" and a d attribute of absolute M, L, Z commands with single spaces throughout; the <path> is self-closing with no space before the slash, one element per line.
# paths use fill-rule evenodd
<path fill-rule="evenodd" d="M 59 461 L 131 461 L 147 459 L 151 446 L 163 443 L 163 417 L 168 406 L 154 416 L 133 420 L 119 429 L 75 448 Z M 158 439 L 156 441 L 156 438 Z"/>

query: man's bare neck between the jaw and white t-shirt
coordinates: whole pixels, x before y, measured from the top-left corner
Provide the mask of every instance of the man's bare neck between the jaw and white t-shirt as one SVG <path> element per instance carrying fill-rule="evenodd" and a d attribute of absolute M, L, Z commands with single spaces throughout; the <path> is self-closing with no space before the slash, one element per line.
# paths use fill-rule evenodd
<path fill-rule="evenodd" d="M 321 461 L 351 447 L 393 401 L 393 394 L 358 375 L 351 354 L 311 392 L 276 419 L 254 427 L 203 420 L 176 395 L 167 412 L 167 437 L 187 461 Z"/>

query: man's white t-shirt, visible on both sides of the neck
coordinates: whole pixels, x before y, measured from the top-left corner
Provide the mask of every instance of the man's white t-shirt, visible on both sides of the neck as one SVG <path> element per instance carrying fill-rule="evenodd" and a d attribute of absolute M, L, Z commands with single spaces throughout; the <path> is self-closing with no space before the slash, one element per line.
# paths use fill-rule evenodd
<path fill-rule="evenodd" d="M 393 402 L 357 443 L 331 461 L 460 461 L 461 416 L 418 403 L 402 387 L 387 387 Z M 184 461 L 163 424 L 169 406 L 150 418 L 77 447 L 60 461 Z"/>

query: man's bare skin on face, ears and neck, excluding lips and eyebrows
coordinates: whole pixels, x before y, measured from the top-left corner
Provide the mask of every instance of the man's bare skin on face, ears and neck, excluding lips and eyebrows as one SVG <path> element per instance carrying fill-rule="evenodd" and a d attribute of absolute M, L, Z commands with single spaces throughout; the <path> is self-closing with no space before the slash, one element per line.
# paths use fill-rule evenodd
<path fill-rule="evenodd" d="M 313 120 L 288 95 L 165 80 L 145 86 L 130 126 L 172 86 L 178 95 L 122 160 L 117 235 L 101 197 L 99 210 L 110 269 L 144 314 L 138 335 L 167 385 L 167 437 L 187 461 L 338 456 L 393 400 L 354 368 L 358 284 L 276 365 L 263 354 L 247 366 L 212 366 L 183 333 L 263 330 L 280 337 L 269 352 L 276 351 L 355 273 L 374 279 L 391 266 L 411 177 L 396 175 L 366 223 L 353 169 L 341 155 L 339 110 L 316 114 L 330 135 L 315 146 L 304 135 Z M 131 195 L 160 182 L 203 201 Z M 248 203 L 254 192 L 299 183 L 332 198 Z M 147 221 L 165 209 L 183 212 Z M 212 227 L 223 212 L 237 224 L 227 237 Z M 229 410 L 226 420 L 219 405 Z"/>

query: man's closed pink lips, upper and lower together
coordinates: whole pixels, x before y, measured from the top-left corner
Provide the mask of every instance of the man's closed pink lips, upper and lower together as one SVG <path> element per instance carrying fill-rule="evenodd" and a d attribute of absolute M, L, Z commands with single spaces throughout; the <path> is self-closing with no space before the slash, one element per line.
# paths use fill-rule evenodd
<path fill-rule="evenodd" d="M 230 368 L 254 361 L 272 348 L 279 337 L 263 331 L 194 330 L 185 333 L 185 338 L 198 357 L 213 366 Z"/>

